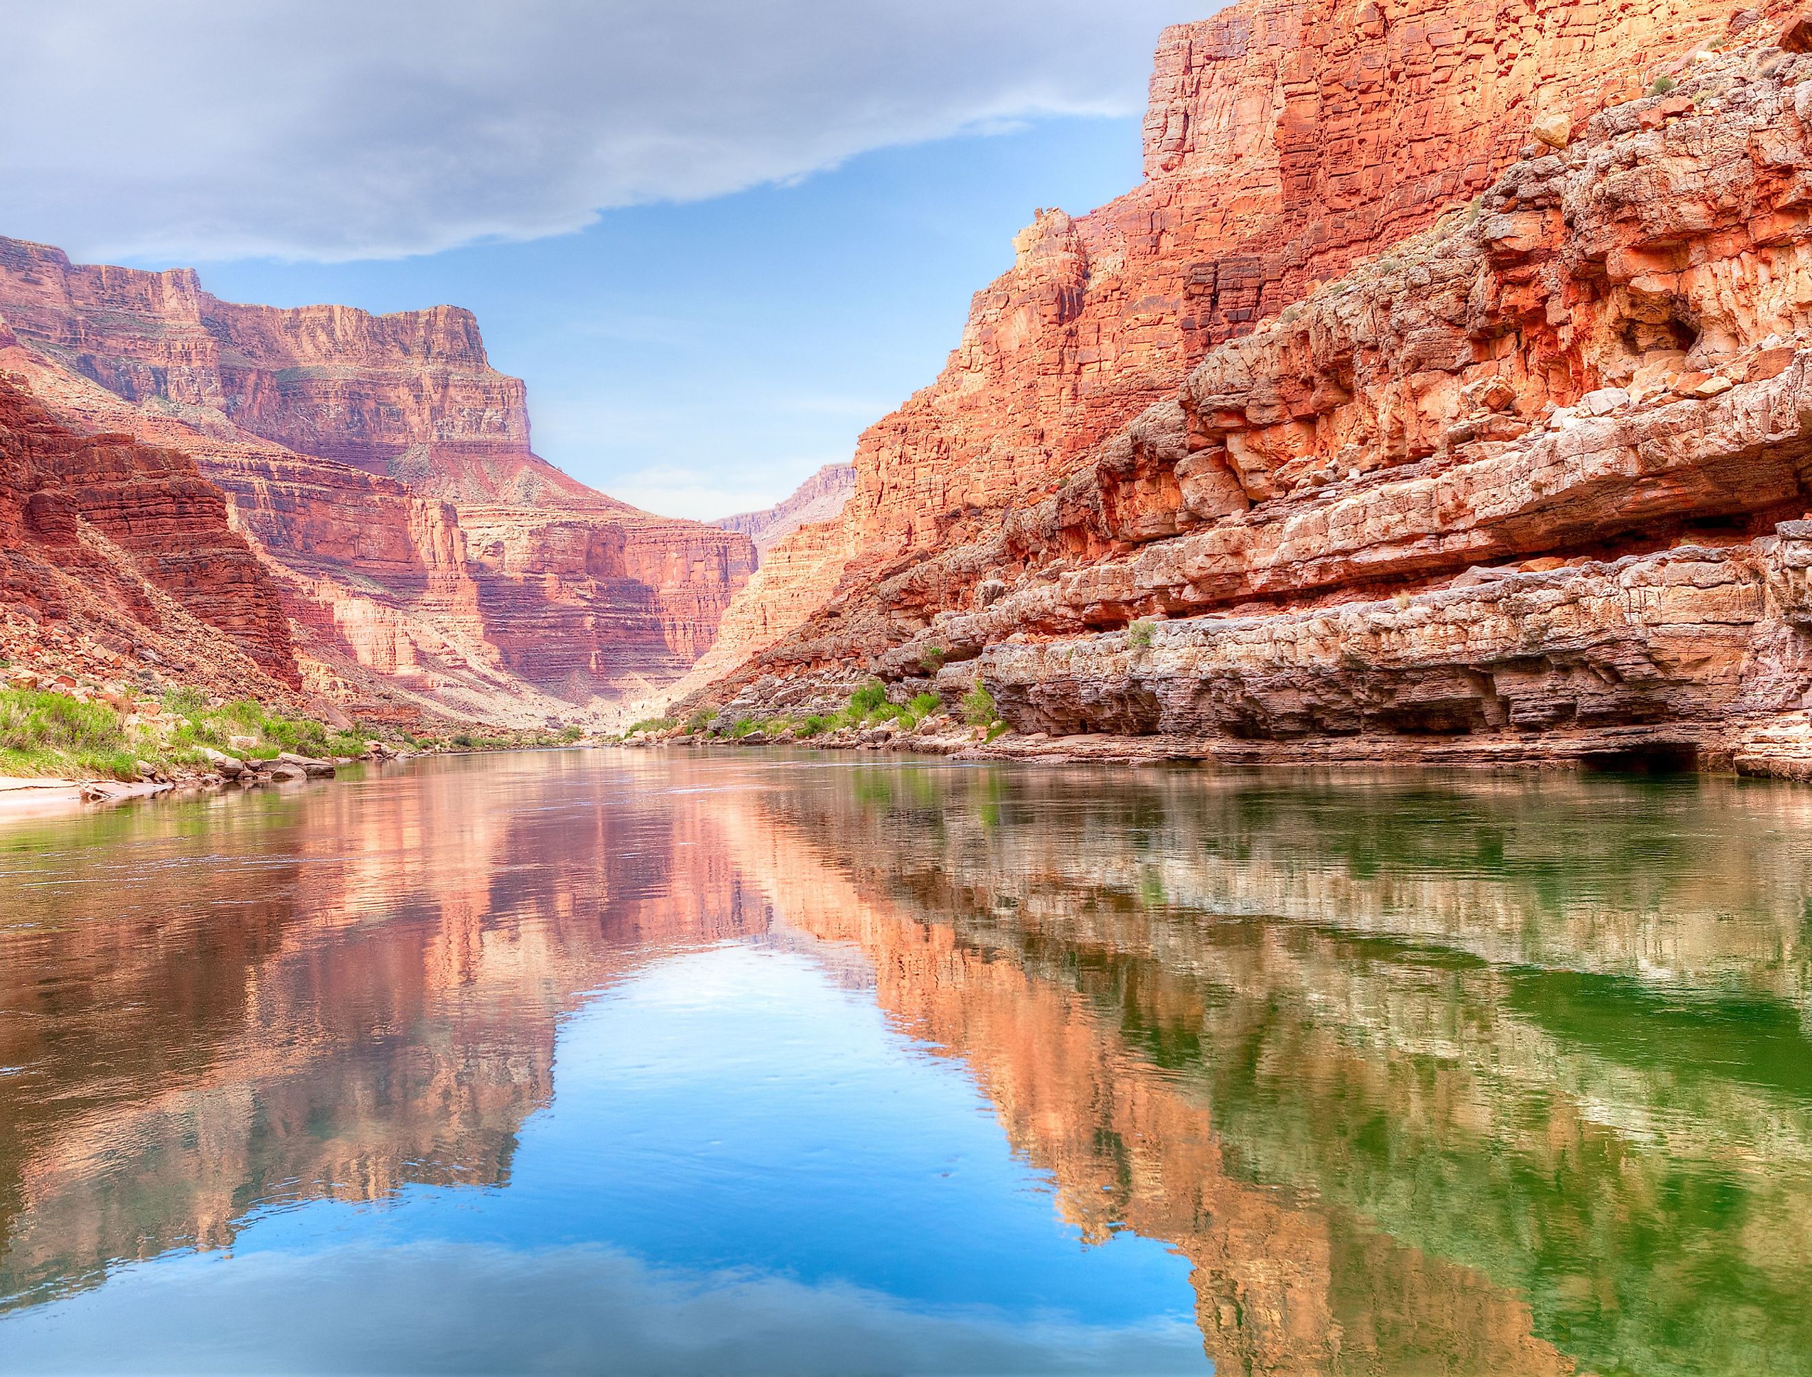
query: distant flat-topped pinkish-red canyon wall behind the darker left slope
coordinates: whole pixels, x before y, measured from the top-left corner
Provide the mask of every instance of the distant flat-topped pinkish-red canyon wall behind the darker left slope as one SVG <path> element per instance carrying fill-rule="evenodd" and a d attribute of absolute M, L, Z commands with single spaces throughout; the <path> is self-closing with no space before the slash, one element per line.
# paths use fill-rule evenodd
<path fill-rule="evenodd" d="M 196 457 L 272 565 L 310 687 L 370 716 L 609 708 L 678 679 L 754 569 L 745 534 L 540 460 L 522 380 L 453 306 L 239 306 L 190 270 L 0 239 L 0 319 L 60 420 Z"/>

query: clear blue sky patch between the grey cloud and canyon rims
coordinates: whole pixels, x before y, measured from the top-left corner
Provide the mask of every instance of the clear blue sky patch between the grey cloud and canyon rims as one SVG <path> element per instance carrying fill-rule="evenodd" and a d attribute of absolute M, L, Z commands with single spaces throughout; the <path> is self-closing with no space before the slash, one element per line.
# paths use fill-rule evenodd
<path fill-rule="evenodd" d="M 199 266 L 230 301 L 469 306 L 491 362 L 529 382 L 540 455 L 651 511 L 712 518 L 848 462 L 942 368 L 1035 207 L 1087 210 L 1138 178 L 1136 120 L 1051 118 L 531 243 Z"/>

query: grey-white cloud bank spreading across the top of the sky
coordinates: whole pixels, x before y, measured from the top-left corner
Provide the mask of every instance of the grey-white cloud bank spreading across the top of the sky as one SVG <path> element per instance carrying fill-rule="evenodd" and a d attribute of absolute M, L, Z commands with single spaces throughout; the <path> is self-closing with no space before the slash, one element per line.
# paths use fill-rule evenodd
<path fill-rule="evenodd" d="M 0 232 L 357 259 L 1143 105 L 1212 0 L 14 0 Z"/>

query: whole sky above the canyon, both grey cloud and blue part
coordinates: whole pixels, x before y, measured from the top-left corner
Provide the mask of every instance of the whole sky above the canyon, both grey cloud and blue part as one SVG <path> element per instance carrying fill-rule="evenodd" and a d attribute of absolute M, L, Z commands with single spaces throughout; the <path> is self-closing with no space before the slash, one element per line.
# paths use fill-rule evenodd
<path fill-rule="evenodd" d="M 469 306 L 542 455 L 721 516 L 930 382 L 1035 207 L 1138 181 L 1158 33 L 1218 7 L 14 0 L 0 234 Z"/>

